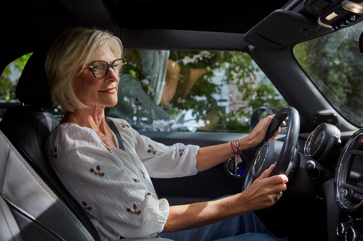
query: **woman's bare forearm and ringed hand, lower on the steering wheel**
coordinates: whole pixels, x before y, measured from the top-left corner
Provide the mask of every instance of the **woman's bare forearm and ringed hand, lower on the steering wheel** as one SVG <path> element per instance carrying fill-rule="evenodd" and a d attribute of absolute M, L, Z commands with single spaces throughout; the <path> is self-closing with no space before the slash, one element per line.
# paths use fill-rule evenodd
<path fill-rule="evenodd" d="M 163 232 L 197 228 L 275 204 L 286 190 L 285 175 L 270 176 L 271 165 L 242 193 L 210 202 L 171 206 Z"/>

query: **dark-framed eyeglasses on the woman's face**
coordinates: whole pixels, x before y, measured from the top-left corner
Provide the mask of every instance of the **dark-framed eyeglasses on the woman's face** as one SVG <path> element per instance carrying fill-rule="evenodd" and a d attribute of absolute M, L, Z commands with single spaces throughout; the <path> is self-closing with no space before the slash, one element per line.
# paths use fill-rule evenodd
<path fill-rule="evenodd" d="M 126 64 L 127 63 L 125 62 L 124 59 L 117 59 L 110 64 L 103 60 L 95 60 L 92 62 L 90 66 L 86 66 L 81 69 L 85 68 L 91 69 L 93 76 L 95 76 L 95 78 L 103 78 L 107 75 L 110 67 L 115 71 L 117 75 L 119 76 L 122 75 L 124 73 Z"/>

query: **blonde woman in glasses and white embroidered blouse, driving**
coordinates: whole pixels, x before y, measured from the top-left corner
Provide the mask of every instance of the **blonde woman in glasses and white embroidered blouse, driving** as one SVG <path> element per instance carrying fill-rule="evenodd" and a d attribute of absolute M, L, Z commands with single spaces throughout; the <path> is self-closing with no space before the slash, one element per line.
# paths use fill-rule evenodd
<path fill-rule="evenodd" d="M 101 237 L 278 240 L 252 212 L 273 205 L 286 190 L 285 175 L 269 177 L 273 165 L 242 193 L 188 205 L 169 206 L 158 199 L 150 180 L 194 175 L 256 146 L 273 117 L 262 119 L 234 144 L 202 148 L 165 146 L 139 135 L 125 120 L 111 119 L 122 136 L 122 150 L 104 115 L 118 101 L 122 50 L 120 39 L 106 31 L 77 28 L 55 41 L 46 60 L 51 95 L 66 111 L 48 140 L 47 153 Z"/>

